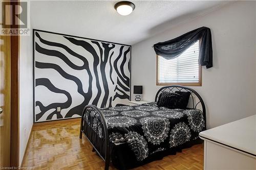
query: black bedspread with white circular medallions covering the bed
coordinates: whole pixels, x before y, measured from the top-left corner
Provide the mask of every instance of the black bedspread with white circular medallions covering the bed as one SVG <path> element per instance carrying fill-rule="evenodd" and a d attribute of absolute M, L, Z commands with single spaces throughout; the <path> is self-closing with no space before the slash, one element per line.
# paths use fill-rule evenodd
<path fill-rule="evenodd" d="M 110 141 L 127 142 L 138 161 L 195 140 L 205 129 L 203 113 L 197 109 L 168 109 L 151 102 L 100 110 L 105 115 Z"/>

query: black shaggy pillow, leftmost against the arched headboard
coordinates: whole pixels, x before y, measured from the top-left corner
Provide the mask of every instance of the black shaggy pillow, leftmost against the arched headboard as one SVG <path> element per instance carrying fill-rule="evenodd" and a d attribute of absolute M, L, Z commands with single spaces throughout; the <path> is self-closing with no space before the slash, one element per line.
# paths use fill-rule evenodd
<path fill-rule="evenodd" d="M 160 96 L 160 95 L 159 95 Z M 159 107 L 167 107 L 170 109 L 177 109 L 179 108 L 179 104 L 181 103 L 182 97 L 178 93 L 171 93 L 171 92 L 162 92 L 158 100 Z"/>

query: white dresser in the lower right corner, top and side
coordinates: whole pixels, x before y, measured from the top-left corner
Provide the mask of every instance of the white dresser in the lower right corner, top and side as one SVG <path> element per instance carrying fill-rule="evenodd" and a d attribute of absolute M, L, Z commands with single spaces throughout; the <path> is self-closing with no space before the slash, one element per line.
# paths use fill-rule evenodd
<path fill-rule="evenodd" d="M 204 169 L 256 169 L 256 115 L 199 133 Z"/>

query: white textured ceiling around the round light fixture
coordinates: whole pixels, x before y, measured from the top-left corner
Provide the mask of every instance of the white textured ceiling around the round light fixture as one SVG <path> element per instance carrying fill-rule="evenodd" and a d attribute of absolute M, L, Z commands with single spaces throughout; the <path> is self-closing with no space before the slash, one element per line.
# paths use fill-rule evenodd
<path fill-rule="evenodd" d="M 33 29 L 133 45 L 226 1 L 132 1 L 132 14 L 119 15 L 118 1 L 31 1 Z"/>

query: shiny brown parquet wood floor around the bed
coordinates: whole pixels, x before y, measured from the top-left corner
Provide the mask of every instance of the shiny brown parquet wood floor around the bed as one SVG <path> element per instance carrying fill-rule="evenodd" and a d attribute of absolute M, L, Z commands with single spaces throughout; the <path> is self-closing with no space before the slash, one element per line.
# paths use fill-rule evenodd
<path fill-rule="evenodd" d="M 22 166 L 53 170 L 104 169 L 103 160 L 92 152 L 89 141 L 84 136 L 79 139 L 79 128 L 80 119 L 34 125 Z M 203 169 L 203 144 L 135 169 Z"/>

